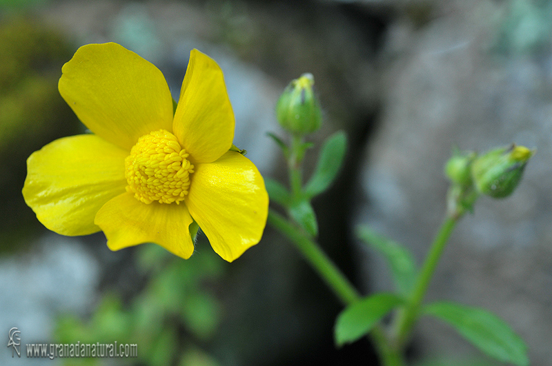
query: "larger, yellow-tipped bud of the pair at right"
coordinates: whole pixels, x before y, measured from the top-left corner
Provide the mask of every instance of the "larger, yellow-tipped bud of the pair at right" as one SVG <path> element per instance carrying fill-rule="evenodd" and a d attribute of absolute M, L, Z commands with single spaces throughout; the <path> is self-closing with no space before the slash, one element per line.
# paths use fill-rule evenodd
<path fill-rule="evenodd" d="M 487 152 L 473 161 L 471 172 L 478 192 L 494 198 L 509 196 L 520 182 L 534 152 L 511 145 Z"/>

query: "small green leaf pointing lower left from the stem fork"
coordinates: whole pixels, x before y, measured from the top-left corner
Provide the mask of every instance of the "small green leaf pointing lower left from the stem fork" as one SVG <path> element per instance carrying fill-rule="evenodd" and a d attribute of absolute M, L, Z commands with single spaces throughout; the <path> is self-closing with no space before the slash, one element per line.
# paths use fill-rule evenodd
<path fill-rule="evenodd" d="M 380 293 L 364 298 L 344 309 L 335 321 L 335 343 L 342 346 L 368 334 L 391 309 L 404 303 L 394 294 Z"/>

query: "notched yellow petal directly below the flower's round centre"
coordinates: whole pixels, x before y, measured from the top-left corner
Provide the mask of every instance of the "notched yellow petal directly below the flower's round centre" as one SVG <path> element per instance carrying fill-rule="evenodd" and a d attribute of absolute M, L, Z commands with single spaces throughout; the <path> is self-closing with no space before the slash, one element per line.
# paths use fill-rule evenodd
<path fill-rule="evenodd" d="M 156 243 L 185 259 L 194 252 L 188 229 L 192 222 L 184 204 L 153 202 L 146 205 L 128 192 L 103 205 L 95 220 L 106 234 L 110 250 Z"/>

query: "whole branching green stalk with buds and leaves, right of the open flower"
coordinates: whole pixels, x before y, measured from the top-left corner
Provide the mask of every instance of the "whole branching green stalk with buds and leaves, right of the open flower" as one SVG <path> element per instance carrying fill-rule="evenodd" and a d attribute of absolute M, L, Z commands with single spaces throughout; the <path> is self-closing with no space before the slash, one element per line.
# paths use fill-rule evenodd
<path fill-rule="evenodd" d="M 328 138 L 321 150 L 313 176 L 303 186 L 302 162 L 306 150 L 311 147 L 311 144 L 304 142 L 304 136 L 315 131 L 319 127 L 320 120 L 319 103 L 313 97 L 313 83 L 314 79 L 310 74 L 308 77 L 304 75 L 292 81 L 277 104 L 278 121 L 289 133 L 290 141 L 286 144 L 273 134 L 269 136 L 282 148 L 286 156 L 289 189 L 272 181 L 269 193 L 273 202 L 284 206 L 288 217 L 269 210 L 268 223 L 282 232 L 297 247 L 345 306 L 336 321 L 337 345 L 344 345 L 368 336 L 373 341 L 376 352 L 380 356 L 380 362 L 384 366 L 404 366 L 406 365 L 404 348 L 422 312 L 424 296 L 456 223 L 466 212 L 473 212 L 473 205 L 482 194 L 493 198 L 502 198 L 511 194 L 534 151 L 515 145 L 493 150 L 481 156 L 475 152 L 455 150 L 445 165 L 445 174 L 451 181 L 451 187 L 446 196 L 445 218 L 431 243 L 420 272 L 416 274 L 413 259 L 408 254 L 408 250 L 402 249 L 400 244 L 392 243 L 386 238 L 368 236 L 367 243 L 379 248 L 391 264 L 397 292 L 362 296 L 315 241 L 317 220 L 311 199 L 324 192 L 335 179 L 344 156 L 346 138 L 339 133 Z M 433 311 L 437 316 L 442 314 L 443 306 L 446 310 L 449 305 L 446 303 L 434 305 Z M 469 313 L 467 316 L 480 314 L 477 309 L 466 310 L 465 307 L 457 305 L 453 305 L 453 308 L 458 312 Z M 393 314 L 391 324 L 387 326 L 382 321 L 384 316 L 390 314 L 393 309 L 397 309 L 397 312 Z M 424 311 L 427 309 L 428 307 L 425 307 Z M 454 318 L 453 321 L 457 322 L 457 319 Z M 491 320 L 492 322 L 497 323 L 495 320 Z M 460 325 L 462 326 L 466 325 Z M 470 323 L 467 326 L 472 325 Z M 515 343 L 515 337 L 512 339 L 512 343 Z M 496 352 L 496 349 L 501 347 L 508 350 L 510 346 L 510 344 L 500 344 L 497 347 L 493 345 L 490 347 L 490 352 Z M 520 347 L 517 348 L 521 349 Z M 519 360 L 520 365 L 525 365 L 525 358 L 519 358 Z"/>

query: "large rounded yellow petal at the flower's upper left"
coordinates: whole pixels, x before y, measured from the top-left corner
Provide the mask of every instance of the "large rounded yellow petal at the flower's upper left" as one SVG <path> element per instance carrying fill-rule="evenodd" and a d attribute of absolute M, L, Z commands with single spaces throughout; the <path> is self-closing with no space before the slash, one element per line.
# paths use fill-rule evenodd
<path fill-rule="evenodd" d="M 130 150 L 140 136 L 172 129 L 172 96 L 163 74 L 121 45 L 83 45 L 61 71 L 59 93 L 106 141 Z"/>

